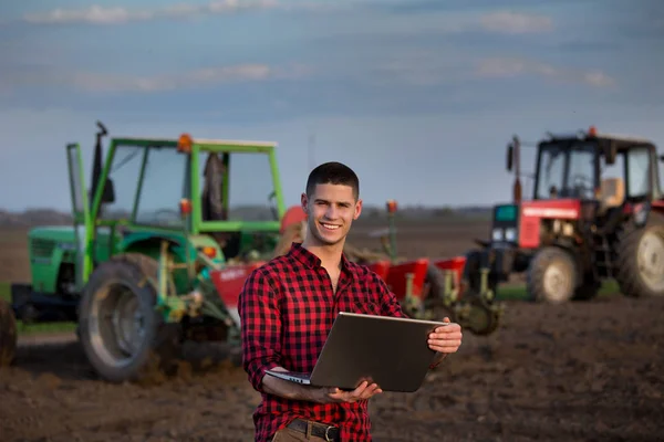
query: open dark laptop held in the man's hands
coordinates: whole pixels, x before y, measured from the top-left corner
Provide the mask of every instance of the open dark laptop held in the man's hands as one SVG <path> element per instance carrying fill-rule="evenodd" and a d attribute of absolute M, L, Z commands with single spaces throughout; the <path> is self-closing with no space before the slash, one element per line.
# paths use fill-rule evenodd
<path fill-rule="evenodd" d="M 363 380 L 383 391 L 417 391 L 436 352 L 427 337 L 448 323 L 341 312 L 311 373 L 266 373 L 314 387 L 354 390 Z"/>

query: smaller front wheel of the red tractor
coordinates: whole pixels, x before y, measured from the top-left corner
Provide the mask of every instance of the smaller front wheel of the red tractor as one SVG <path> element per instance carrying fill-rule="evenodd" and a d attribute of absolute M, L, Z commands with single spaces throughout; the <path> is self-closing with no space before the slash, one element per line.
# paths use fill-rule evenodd
<path fill-rule="evenodd" d="M 535 255 L 528 267 L 528 296 L 535 302 L 568 302 L 574 295 L 577 277 L 570 253 L 556 246 L 544 248 Z"/>

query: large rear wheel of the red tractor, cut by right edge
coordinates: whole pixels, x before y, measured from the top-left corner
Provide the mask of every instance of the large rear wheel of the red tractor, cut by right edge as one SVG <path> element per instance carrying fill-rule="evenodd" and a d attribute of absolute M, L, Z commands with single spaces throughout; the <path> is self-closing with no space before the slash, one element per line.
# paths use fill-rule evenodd
<path fill-rule="evenodd" d="M 627 223 L 616 252 L 615 280 L 625 296 L 664 296 L 664 217 L 651 213 L 641 229 Z"/>

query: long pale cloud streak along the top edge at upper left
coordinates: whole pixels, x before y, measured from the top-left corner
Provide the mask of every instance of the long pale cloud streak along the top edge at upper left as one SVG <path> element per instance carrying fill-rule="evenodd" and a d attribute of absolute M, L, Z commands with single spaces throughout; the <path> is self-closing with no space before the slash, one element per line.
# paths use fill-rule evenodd
<path fill-rule="evenodd" d="M 123 7 L 91 6 L 85 9 L 54 9 L 23 15 L 32 24 L 122 24 L 164 18 L 188 19 L 206 14 L 226 14 L 242 10 L 277 8 L 276 0 L 216 0 L 207 4 L 170 4 L 158 9 L 132 10 Z"/>

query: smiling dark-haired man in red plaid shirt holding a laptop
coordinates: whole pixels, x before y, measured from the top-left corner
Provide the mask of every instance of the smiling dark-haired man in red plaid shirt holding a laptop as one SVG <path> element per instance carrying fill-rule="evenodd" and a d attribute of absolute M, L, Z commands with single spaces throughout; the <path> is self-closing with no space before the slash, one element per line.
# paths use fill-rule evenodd
<path fill-rule="evenodd" d="M 262 396 L 253 421 L 256 441 L 371 441 L 367 401 L 380 386 L 354 391 L 314 388 L 266 376 L 266 369 L 310 372 L 340 311 L 405 317 L 386 284 L 350 262 L 343 246 L 362 200 L 356 175 L 340 162 L 313 169 L 302 193 L 308 215 L 301 244 L 293 243 L 253 271 L 240 294 L 242 364 Z M 446 322 L 449 322 L 446 318 Z M 440 361 L 461 344 L 457 324 L 429 335 Z"/>

